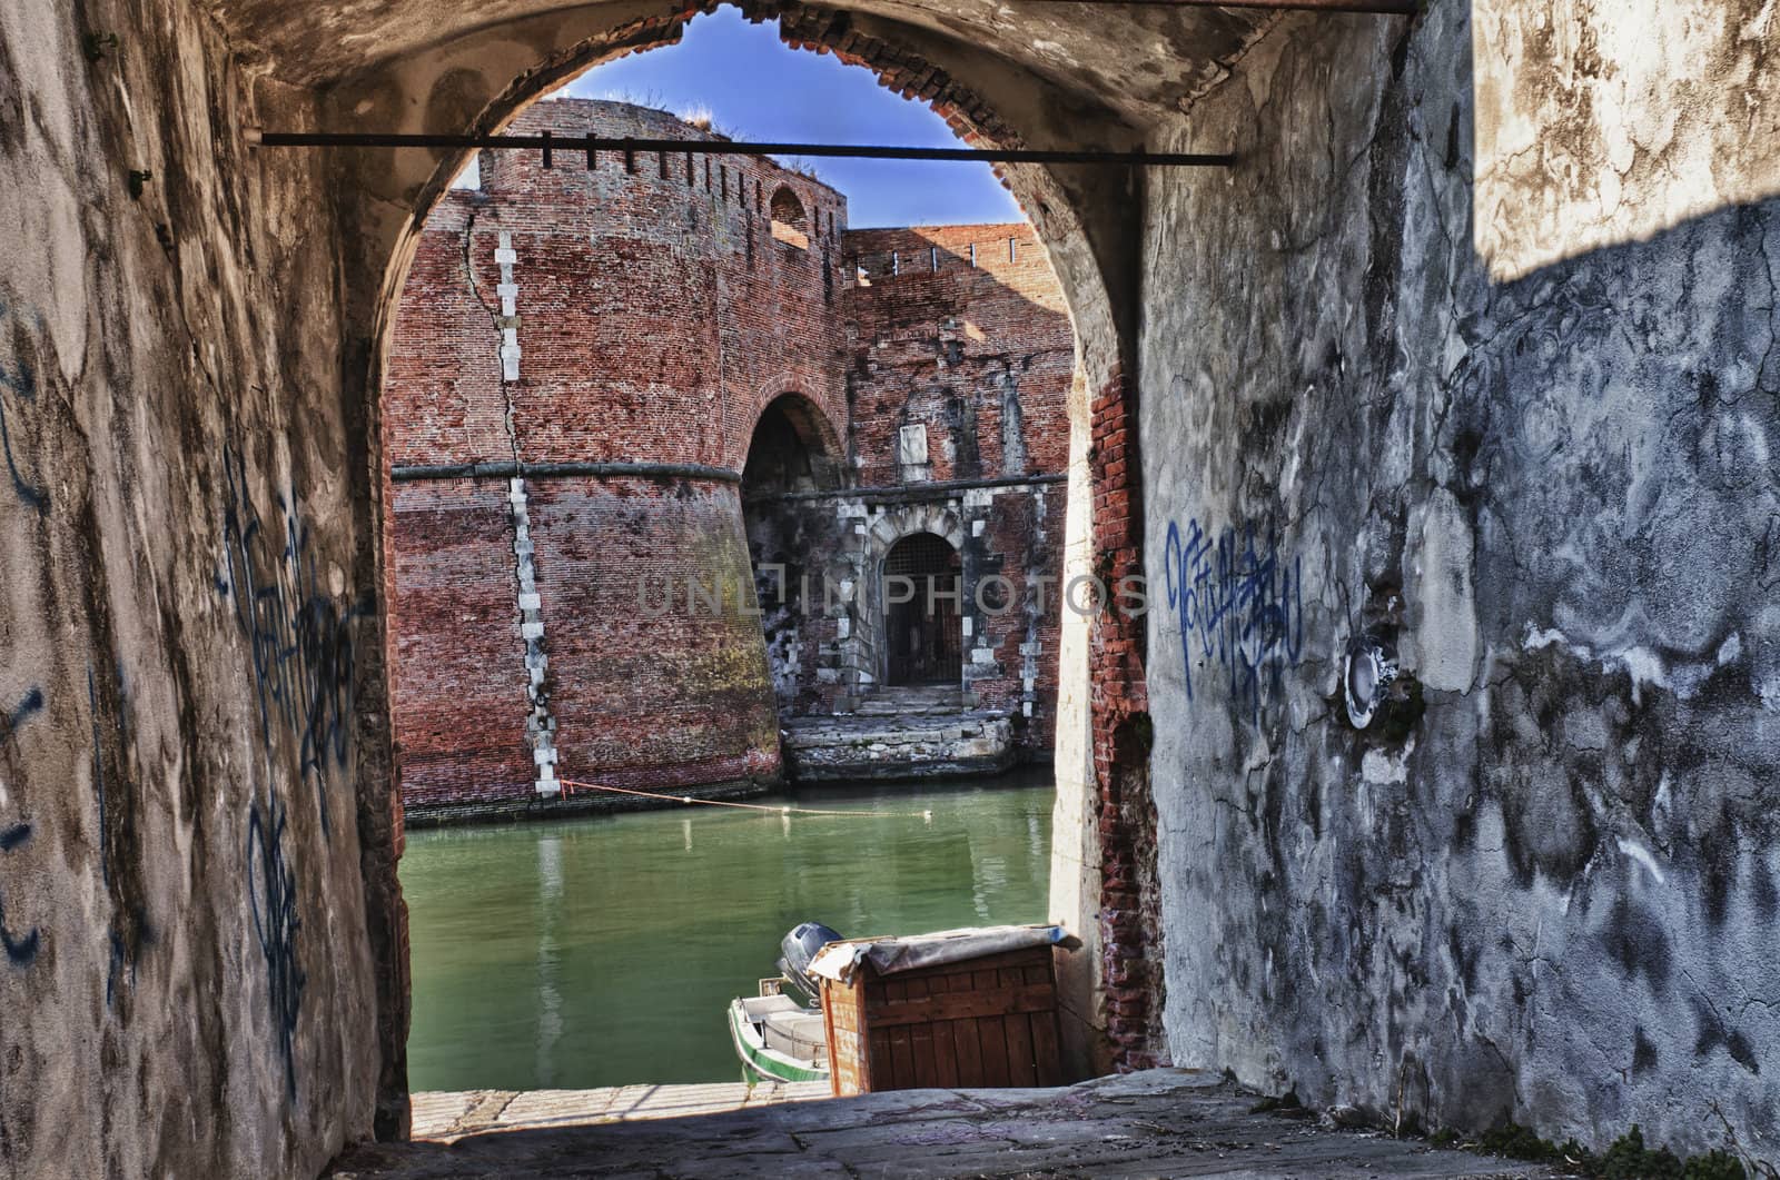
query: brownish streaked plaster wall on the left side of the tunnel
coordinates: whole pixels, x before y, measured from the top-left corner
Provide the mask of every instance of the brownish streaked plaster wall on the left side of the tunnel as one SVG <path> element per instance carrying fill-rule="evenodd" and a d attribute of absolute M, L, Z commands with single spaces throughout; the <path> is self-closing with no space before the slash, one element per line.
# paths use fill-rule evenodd
<path fill-rule="evenodd" d="M 326 178 L 235 133 L 310 116 L 192 5 L 0 5 L 0 1176 L 372 1130 L 370 468 Z"/>

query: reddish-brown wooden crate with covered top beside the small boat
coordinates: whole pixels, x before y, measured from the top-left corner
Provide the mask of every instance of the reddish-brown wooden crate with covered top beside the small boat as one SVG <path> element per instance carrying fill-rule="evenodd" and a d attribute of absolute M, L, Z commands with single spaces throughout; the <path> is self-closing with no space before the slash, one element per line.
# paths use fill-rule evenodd
<path fill-rule="evenodd" d="M 1050 947 L 822 982 L 835 1095 L 1061 1086 Z"/>

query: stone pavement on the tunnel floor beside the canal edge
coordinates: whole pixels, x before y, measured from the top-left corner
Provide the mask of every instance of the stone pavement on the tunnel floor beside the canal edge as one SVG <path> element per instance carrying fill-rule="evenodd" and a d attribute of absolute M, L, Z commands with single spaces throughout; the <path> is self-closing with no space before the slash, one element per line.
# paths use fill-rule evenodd
<path fill-rule="evenodd" d="M 1148 1070 L 1063 1089 L 922 1089 L 862 1098 L 760 1103 L 717 1114 L 646 1118 L 655 1089 L 671 1109 L 680 1087 L 605 1095 L 595 1112 L 564 1098 L 511 1095 L 493 1119 L 473 1102 L 433 1109 L 456 1141 L 367 1144 L 335 1162 L 336 1180 L 566 1180 L 570 1176 L 1223 1176 L 1260 1180 L 1543 1178 L 1550 1171 L 1419 1141 L 1321 1130 L 1308 1116 L 1257 1114 L 1255 1095 L 1194 1070 Z M 687 1087 L 723 1091 L 740 1087 Z M 555 1091 L 566 1095 L 573 1091 Z M 456 1103 L 454 1096 L 452 1103 Z M 484 1100 L 495 1102 L 482 1095 Z M 730 1095 L 733 1098 L 733 1095 Z M 705 1095 L 696 1102 L 714 1102 Z M 438 1121 L 443 1119 L 443 1121 Z M 536 1119 L 536 1121 L 527 1121 Z M 568 1121 L 564 1121 L 568 1119 Z M 603 1119 L 603 1121 L 602 1121 Z M 456 1130 L 452 1130 L 456 1128 Z"/>

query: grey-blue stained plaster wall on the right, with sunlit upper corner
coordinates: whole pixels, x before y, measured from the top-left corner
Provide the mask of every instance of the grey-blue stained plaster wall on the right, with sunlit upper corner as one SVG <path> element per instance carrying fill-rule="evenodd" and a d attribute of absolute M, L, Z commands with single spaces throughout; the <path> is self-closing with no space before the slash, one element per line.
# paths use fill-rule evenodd
<path fill-rule="evenodd" d="M 1242 153 L 1146 224 L 1164 1023 L 1385 1119 L 1775 1160 L 1780 205 L 1675 192 L 1771 190 L 1775 11 L 1646 7 L 1283 18 L 1164 137 Z"/>

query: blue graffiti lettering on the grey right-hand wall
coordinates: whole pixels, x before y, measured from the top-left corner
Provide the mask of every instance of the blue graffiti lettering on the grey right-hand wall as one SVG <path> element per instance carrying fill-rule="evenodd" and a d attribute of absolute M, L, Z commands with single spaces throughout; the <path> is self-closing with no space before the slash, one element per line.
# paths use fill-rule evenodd
<path fill-rule="evenodd" d="M 1230 701 L 1260 721 L 1262 701 L 1280 692 L 1285 669 L 1305 646 L 1301 559 L 1287 564 L 1273 527 L 1226 527 L 1216 539 L 1198 520 L 1185 536 L 1169 521 L 1162 550 L 1168 605 L 1180 621 L 1187 701 L 1193 667 L 1216 660 L 1230 682 Z"/>

